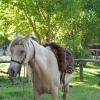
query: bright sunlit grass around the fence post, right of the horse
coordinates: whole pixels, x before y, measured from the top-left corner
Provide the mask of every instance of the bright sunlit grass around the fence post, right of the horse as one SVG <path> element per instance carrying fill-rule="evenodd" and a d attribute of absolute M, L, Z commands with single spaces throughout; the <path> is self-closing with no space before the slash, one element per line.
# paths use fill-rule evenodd
<path fill-rule="evenodd" d="M 100 69 L 96 70 L 93 68 L 84 68 L 83 70 L 83 82 L 80 82 L 80 72 L 79 69 L 74 71 L 72 84 L 74 85 L 84 85 L 85 87 L 96 87 L 100 89 L 98 81 L 100 80 Z"/>

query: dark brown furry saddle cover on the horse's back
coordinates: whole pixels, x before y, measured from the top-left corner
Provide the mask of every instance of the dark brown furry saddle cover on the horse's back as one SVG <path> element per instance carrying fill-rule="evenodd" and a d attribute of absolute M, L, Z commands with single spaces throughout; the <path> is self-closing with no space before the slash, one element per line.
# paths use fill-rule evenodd
<path fill-rule="evenodd" d="M 59 70 L 61 72 L 64 72 L 64 71 L 68 73 L 73 72 L 74 60 L 73 60 L 73 56 L 71 52 L 68 49 L 63 48 L 62 46 L 56 43 L 47 43 L 47 44 L 44 44 L 43 46 L 44 47 L 49 46 L 53 50 L 58 61 Z"/>

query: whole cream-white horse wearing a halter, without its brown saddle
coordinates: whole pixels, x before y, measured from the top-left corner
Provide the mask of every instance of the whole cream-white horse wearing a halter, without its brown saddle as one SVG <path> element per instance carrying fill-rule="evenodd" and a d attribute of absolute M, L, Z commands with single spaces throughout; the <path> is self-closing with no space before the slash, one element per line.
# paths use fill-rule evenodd
<path fill-rule="evenodd" d="M 55 54 L 50 47 L 44 47 L 36 41 L 22 36 L 16 37 L 10 45 L 11 63 L 8 73 L 15 76 L 22 64 L 31 67 L 32 81 L 35 87 L 35 100 L 41 100 L 41 94 L 51 93 L 53 100 L 57 99 L 58 88 L 61 87 L 60 71 Z M 63 100 L 67 100 L 67 93 L 71 75 L 65 75 L 65 91 Z"/>

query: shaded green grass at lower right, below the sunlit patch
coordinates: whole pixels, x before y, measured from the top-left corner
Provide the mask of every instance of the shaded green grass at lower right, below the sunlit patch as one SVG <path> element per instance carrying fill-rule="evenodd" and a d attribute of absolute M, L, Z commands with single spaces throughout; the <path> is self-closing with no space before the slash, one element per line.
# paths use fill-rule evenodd
<path fill-rule="evenodd" d="M 69 100 L 99 100 L 100 89 L 77 85 L 70 88 Z"/>

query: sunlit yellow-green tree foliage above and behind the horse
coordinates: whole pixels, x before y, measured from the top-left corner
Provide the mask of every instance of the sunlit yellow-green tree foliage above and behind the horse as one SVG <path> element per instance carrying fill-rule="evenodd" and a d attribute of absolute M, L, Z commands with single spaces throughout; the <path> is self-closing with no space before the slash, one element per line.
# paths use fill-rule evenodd
<path fill-rule="evenodd" d="M 100 0 L 0 0 L 0 41 L 16 32 L 36 36 L 40 43 L 57 42 L 75 57 L 100 42 Z"/>

